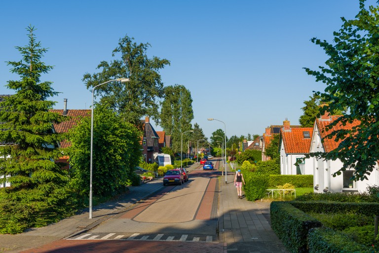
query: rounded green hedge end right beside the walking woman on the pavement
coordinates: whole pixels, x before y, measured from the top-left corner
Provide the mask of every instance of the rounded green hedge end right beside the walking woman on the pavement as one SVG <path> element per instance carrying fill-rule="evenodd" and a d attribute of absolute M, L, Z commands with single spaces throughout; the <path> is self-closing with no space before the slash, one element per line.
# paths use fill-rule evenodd
<path fill-rule="evenodd" d="M 268 188 L 268 175 L 255 176 L 253 173 L 243 174 L 245 185 L 243 190 L 247 200 L 254 201 L 262 199 L 266 196 L 266 189 Z"/>

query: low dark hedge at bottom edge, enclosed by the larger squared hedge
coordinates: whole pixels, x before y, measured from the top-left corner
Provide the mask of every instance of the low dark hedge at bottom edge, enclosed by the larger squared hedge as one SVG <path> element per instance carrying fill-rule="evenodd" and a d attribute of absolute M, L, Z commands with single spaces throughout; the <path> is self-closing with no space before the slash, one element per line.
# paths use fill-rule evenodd
<path fill-rule="evenodd" d="M 369 253 L 371 249 L 364 248 L 345 234 L 330 228 L 313 228 L 308 234 L 309 253 Z"/>

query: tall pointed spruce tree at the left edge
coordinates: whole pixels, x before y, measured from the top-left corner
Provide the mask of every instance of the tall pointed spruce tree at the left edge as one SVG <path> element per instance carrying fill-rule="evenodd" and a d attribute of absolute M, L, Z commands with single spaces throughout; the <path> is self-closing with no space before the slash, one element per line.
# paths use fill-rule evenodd
<path fill-rule="evenodd" d="M 11 186 L 2 188 L 0 199 L 43 202 L 48 206 L 64 199 L 67 171 L 55 161 L 62 156 L 57 144 L 64 139 L 52 131 L 53 123 L 66 120 L 65 116 L 49 112 L 55 102 L 47 100 L 57 95 L 52 82 L 40 81 L 42 74 L 53 67 L 45 65 L 41 58 L 47 51 L 36 41 L 36 29 L 27 28 L 29 43 L 17 46 L 20 61 L 9 61 L 11 72 L 20 76 L 5 85 L 15 94 L 0 102 L 0 179 Z"/>

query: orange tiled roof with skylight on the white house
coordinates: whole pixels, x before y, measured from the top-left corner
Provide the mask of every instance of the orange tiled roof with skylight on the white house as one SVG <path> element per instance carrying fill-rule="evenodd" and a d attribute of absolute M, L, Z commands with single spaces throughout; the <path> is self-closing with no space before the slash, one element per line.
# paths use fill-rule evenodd
<path fill-rule="evenodd" d="M 309 138 L 304 138 L 303 132 L 309 132 Z M 312 141 L 312 127 L 292 128 L 291 131 L 280 129 L 284 150 L 287 154 L 309 153 Z"/>

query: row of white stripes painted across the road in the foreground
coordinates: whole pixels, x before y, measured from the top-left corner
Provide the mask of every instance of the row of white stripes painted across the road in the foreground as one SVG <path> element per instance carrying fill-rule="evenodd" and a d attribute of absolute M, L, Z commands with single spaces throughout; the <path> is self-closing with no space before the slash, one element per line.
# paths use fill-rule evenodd
<path fill-rule="evenodd" d="M 104 234 L 103 234 L 104 235 Z M 116 235 L 115 233 L 109 233 L 103 237 L 100 237 L 101 235 L 94 235 L 94 234 L 83 234 L 76 238 L 69 238 L 67 240 L 124 240 L 124 241 L 166 241 L 166 242 L 207 242 L 212 243 L 213 242 L 213 236 L 207 235 L 205 241 L 200 241 L 200 237 L 193 237 L 192 240 L 187 240 L 189 238 L 189 235 L 181 235 L 179 238 L 178 236 L 167 236 L 167 238 L 164 237 L 164 234 L 157 234 L 155 237 L 152 237 L 150 235 L 143 235 L 141 238 L 138 238 L 140 233 L 134 233 L 130 235 L 129 237 L 126 237 L 125 235 Z M 100 237 L 100 238 L 99 238 Z M 152 238 L 152 239 L 149 239 Z M 163 238 L 163 239 L 162 239 Z M 175 239 L 179 238 L 179 239 Z"/>

